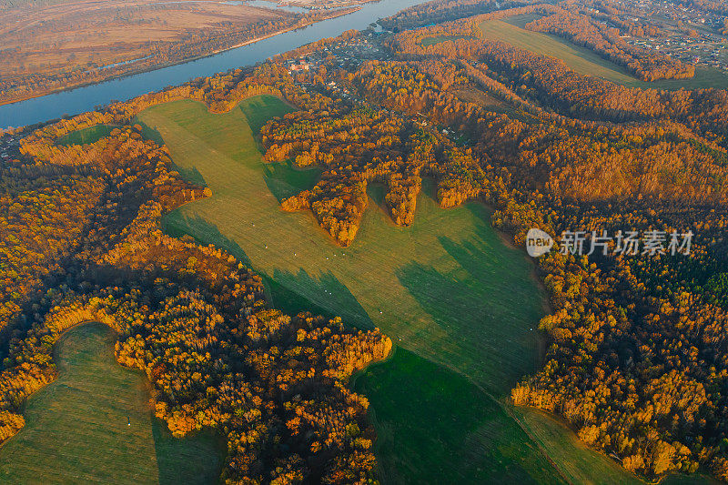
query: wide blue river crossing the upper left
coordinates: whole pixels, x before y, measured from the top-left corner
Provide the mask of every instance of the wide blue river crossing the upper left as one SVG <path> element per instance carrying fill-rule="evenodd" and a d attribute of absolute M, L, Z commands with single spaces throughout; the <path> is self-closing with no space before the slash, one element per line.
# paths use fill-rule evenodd
<path fill-rule="evenodd" d="M 273 35 L 213 56 L 0 106 L 0 127 L 25 126 L 64 115 L 76 115 L 112 100 L 126 101 L 166 86 L 185 83 L 198 76 L 211 76 L 235 67 L 251 66 L 324 37 L 333 37 L 352 28 L 365 29 L 379 18 L 425 1 L 381 0 L 365 4 L 359 11 L 349 15 Z"/>

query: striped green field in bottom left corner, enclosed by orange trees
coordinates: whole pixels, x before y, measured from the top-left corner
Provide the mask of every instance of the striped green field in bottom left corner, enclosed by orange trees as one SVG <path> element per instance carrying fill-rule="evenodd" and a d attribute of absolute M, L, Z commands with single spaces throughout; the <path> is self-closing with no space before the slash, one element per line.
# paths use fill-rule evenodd
<path fill-rule="evenodd" d="M 28 399 L 25 428 L 0 448 L 0 482 L 217 480 L 222 458 L 217 440 L 172 438 L 149 409 L 144 375 L 116 363 L 115 340 L 98 323 L 60 338 L 55 352 L 60 376 Z"/>

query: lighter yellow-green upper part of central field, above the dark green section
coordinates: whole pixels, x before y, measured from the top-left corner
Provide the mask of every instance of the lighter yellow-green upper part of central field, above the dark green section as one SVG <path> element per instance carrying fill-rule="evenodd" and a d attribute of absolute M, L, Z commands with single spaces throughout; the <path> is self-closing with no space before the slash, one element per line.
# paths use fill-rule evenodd
<path fill-rule="evenodd" d="M 248 261 L 283 287 L 273 291 L 276 306 L 293 293 L 351 324 L 382 328 L 494 394 L 507 394 L 537 368 L 540 338 L 531 328 L 543 314 L 543 294 L 530 261 L 490 227 L 487 207 L 441 210 L 428 183 L 414 224 L 396 227 L 381 206 L 383 188 L 370 187 L 357 240 L 339 248 L 310 213 L 280 210 L 280 195 L 300 188 L 288 184 L 299 183 L 300 172 L 264 164 L 252 139 L 246 112 L 284 106 L 273 96 L 242 106 L 216 116 L 181 101 L 139 116 L 164 138 L 177 166 L 197 170 L 213 193 L 165 217 L 167 230 Z"/>

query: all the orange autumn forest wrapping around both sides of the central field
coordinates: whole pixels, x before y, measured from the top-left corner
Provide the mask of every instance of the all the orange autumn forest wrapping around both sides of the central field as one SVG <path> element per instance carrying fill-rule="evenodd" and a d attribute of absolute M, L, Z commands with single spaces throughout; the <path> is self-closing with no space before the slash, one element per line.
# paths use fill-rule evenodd
<path fill-rule="evenodd" d="M 328 56 L 294 77 L 283 56 L 16 130 L 20 156 L 0 166 L 2 438 L 22 428 L 27 395 L 54 379 L 60 333 L 99 320 L 120 336 L 118 361 L 146 372 L 169 429 L 225 435 L 226 482 L 374 480 L 368 403 L 345 384 L 389 354 L 389 338 L 339 318 L 283 315 L 238 260 L 158 227 L 209 189 L 183 182 L 133 116 L 177 99 L 222 113 L 266 93 L 296 110 L 262 127 L 265 160 L 322 170 L 281 210 L 310 211 L 342 247 L 370 209 L 369 184 L 385 187 L 392 222 L 406 227 L 423 178 L 441 207 L 493 207 L 493 226 L 520 247 L 531 227 L 561 243 L 567 230 L 692 231 L 688 256 L 539 258 L 550 345 L 511 402 L 560 416 L 643 478 L 728 480 L 728 92 L 618 86 L 480 35 L 484 20 L 531 5 L 454 20 L 473 13 L 469 2 L 438 5 L 385 19 L 447 20 L 391 35 L 391 60 L 343 69 Z M 446 40 L 422 42 L 436 36 Z M 96 143 L 57 143 L 102 124 L 116 129 Z"/>

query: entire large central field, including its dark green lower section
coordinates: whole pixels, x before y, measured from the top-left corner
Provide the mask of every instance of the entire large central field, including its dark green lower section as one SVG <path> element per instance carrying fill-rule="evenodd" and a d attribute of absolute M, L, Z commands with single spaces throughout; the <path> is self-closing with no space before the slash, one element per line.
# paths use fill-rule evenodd
<path fill-rule="evenodd" d="M 256 96 L 224 115 L 179 101 L 138 116 L 147 136 L 165 140 L 180 171 L 198 174 L 213 193 L 164 217 L 166 230 L 247 262 L 277 308 L 340 315 L 394 340 L 392 358 L 355 383 L 371 402 L 385 482 L 562 482 L 561 470 L 501 404 L 540 364 L 534 328 L 544 295 L 531 262 L 502 243 L 487 207 L 442 210 L 430 183 L 407 228 L 386 215 L 383 187 L 370 187 L 359 236 L 339 248 L 310 213 L 278 205 L 281 195 L 310 187 L 318 172 L 265 164 L 253 138 L 250 126 L 257 131 L 261 116 L 288 109 Z M 459 453 L 462 460 L 453 460 Z M 612 465 L 604 479 L 621 482 L 623 475 Z"/>

